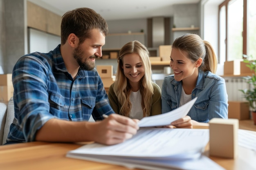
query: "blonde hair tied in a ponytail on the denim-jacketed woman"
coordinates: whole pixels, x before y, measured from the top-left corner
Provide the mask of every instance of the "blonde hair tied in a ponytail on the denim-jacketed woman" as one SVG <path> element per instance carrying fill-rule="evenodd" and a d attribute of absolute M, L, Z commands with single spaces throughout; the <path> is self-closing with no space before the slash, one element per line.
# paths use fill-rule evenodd
<path fill-rule="evenodd" d="M 185 52 L 192 62 L 196 62 L 201 57 L 203 60 L 199 68 L 216 73 L 218 61 L 213 47 L 199 35 L 184 34 L 173 42 L 172 48 Z"/>

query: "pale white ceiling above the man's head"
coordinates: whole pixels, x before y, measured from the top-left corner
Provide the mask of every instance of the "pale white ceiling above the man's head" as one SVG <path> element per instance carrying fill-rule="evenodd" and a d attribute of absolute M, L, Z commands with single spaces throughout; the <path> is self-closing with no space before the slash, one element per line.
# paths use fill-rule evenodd
<path fill-rule="evenodd" d="M 193 4 L 200 0 L 29 0 L 63 15 L 79 7 L 94 9 L 105 20 L 124 20 L 172 16 L 174 4 Z"/>

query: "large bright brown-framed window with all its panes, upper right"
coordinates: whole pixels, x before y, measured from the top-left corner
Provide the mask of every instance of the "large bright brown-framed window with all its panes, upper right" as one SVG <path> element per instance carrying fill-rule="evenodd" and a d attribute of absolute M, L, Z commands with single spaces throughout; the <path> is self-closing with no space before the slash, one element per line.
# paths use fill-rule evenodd
<path fill-rule="evenodd" d="M 225 0 L 219 5 L 220 62 L 256 60 L 256 0 Z M 248 10 L 247 10 L 248 9 Z"/>

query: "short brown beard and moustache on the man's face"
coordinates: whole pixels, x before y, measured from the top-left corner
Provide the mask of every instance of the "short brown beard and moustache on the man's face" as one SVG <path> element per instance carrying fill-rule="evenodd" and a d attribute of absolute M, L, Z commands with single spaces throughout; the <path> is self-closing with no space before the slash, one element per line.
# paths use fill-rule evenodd
<path fill-rule="evenodd" d="M 76 49 L 74 49 L 73 56 L 74 56 L 74 59 L 76 59 L 76 62 L 79 64 L 80 68 L 87 71 L 92 70 L 95 67 L 95 62 L 89 62 L 89 61 L 83 62 L 83 55 L 84 55 L 84 52 L 81 49 L 80 45 Z M 99 58 L 99 57 L 96 55 L 92 55 L 90 56 L 90 58 Z"/>

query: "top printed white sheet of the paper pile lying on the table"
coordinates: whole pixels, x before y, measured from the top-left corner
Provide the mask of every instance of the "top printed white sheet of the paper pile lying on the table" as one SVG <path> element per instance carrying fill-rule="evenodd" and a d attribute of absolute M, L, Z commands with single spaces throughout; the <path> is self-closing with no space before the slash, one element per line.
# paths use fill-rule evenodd
<path fill-rule="evenodd" d="M 112 155 L 163 159 L 164 157 L 194 158 L 209 141 L 209 129 L 141 128 L 131 139 L 106 146 L 93 143 L 70 153 L 83 155 Z"/>

